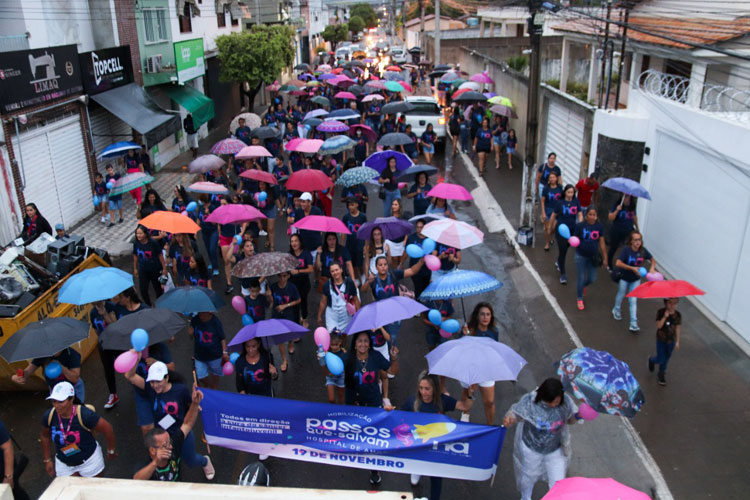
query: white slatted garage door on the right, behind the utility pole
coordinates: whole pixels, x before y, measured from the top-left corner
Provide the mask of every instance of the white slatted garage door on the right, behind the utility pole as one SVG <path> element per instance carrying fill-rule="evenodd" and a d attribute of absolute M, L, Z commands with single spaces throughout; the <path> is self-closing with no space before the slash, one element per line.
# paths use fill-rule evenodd
<path fill-rule="evenodd" d="M 585 125 L 583 116 L 555 101 L 550 101 L 543 159 L 546 160 L 550 153 L 557 154 L 557 165 L 562 169 L 563 184 L 575 185 L 580 178 Z"/>

